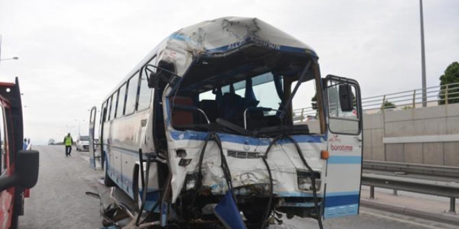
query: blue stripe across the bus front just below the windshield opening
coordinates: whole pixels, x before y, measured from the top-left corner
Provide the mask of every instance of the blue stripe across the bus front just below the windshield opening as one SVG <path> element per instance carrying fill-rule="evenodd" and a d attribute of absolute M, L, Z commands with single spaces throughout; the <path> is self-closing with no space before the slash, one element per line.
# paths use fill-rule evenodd
<path fill-rule="evenodd" d="M 207 137 L 207 132 L 200 132 L 200 131 L 179 131 L 179 130 L 172 130 L 170 132 L 170 137 L 175 140 L 199 140 L 204 141 Z M 231 135 L 227 133 L 218 133 L 218 137 L 222 140 L 222 142 L 232 142 L 238 144 L 248 144 L 252 146 L 268 146 L 271 142 L 270 139 L 259 139 L 256 137 L 244 137 L 239 135 Z M 298 143 L 321 143 L 325 142 L 323 136 L 321 135 L 293 135 L 293 139 L 296 140 Z M 279 144 L 288 144 L 291 143 L 289 139 L 280 139 L 278 141 Z"/>

